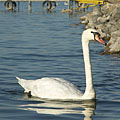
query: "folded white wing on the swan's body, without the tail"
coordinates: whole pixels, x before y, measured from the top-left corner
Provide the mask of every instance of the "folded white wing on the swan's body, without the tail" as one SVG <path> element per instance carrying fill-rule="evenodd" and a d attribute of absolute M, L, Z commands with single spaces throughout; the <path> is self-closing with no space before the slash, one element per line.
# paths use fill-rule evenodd
<path fill-rule="evenodd" d="M 70 82 L 61 78 L 41 78 L 25 81 L 24 89 L 32 96 L 50 99 L 77 99 L 82 93 Z"/>

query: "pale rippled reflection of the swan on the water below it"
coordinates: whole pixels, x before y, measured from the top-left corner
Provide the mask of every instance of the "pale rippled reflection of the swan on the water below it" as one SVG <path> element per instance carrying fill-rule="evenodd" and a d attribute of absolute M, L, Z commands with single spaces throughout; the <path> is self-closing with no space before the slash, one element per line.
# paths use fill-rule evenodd
<path fill-rule="evenodd" d="M 31 98 L 32 99 L 32 98 Z M 34 100 L 34 99 L 33 99 Z M 31 101 L 32 102 L 32 101 Z M 20 109 L 36 111 L 39 114 L 84 114 L 84 120 L 92 120 L 96 101 L 34 101 L 33 104 L 20 105 Z"/>

